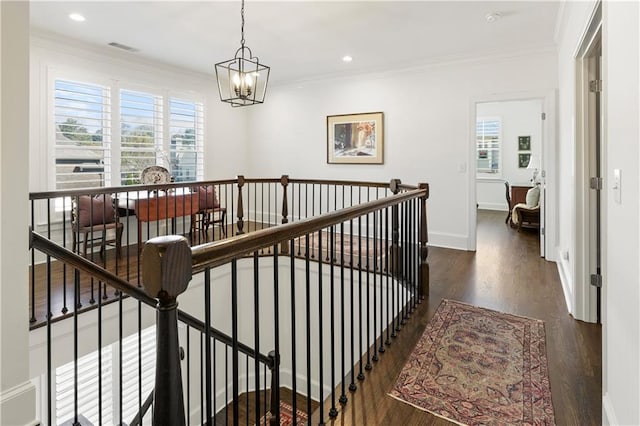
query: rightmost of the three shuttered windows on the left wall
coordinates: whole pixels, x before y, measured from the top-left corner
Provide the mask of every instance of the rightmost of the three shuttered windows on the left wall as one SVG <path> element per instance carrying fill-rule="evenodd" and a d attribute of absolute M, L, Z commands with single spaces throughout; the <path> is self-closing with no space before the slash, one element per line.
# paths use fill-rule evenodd
<path fill-rule="evenodd" d="M 203 178 L 204 108 L 202 103 L 171 98 L 169 102 L 171 173 L 176 182 Z"/>

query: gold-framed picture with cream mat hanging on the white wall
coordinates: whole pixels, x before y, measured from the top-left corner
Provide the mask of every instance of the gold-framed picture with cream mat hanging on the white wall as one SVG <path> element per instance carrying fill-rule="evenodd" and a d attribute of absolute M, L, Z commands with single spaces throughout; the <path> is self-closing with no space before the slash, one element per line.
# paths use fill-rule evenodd
<path fill-rule="evenodd" d="M 327 163 L 382 164 L 383 113 L 327 116 Z"/>

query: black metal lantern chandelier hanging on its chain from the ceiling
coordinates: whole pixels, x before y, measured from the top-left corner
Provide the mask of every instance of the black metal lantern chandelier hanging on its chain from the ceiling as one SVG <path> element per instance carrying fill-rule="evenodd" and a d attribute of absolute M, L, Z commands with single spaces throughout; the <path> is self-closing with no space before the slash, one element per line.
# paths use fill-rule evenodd
<path fill-rule="evenodd" d="M 240 9 L 240 48 L 233 59 L 216 64 L 220 100 L 231 106 L 248 106 L 264 102 L 270 68 L 244 44 L 244 0 Z"/>

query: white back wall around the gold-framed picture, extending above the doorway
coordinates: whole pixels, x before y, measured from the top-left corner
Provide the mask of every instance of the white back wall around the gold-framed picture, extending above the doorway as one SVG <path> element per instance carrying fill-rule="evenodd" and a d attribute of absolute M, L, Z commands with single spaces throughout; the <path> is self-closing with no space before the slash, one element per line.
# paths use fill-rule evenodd
<path fill-rule="evenodd" d="M 249 168 L 265 176 L 428 182 L 430 243 L 466 249 L 471 101 L 556 86 L 551 52 L 274 86 L 250 111 Z M 372 111 L 384 112 L 384 164 L 327 164 L 327 115 Z"/>

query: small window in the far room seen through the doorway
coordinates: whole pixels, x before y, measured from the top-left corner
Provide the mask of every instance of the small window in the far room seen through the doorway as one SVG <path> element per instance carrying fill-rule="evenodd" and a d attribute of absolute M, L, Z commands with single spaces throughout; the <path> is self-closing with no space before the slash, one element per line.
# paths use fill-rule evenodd
<path fill-rule="evenodd" d="M 476 172 L 478 175 L 501 173 L 500 133 L 499 118 L 478 117 L 476 121 Z"/>

